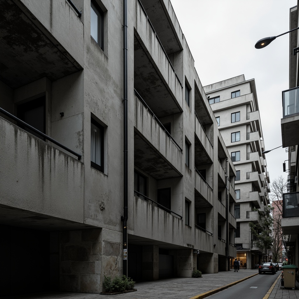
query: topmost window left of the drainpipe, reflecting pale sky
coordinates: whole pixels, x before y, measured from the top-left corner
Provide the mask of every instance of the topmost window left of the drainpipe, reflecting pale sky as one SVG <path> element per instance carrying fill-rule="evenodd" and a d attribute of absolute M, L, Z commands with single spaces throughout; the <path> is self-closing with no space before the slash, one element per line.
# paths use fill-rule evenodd
<path fill-rule="evenodd" d="M 103 11 L 100 9 L 96 1 L 90 2 L 90 35 L 97 42 L 102 50 L 104 50 L 103 39 Z"/>

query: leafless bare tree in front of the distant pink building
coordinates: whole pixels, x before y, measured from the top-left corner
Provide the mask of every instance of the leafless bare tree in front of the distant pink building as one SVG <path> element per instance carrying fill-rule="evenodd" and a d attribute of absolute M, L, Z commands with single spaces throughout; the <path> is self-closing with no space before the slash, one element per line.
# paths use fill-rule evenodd
<path fill-rule="evenodd" d="M 271 237 L 273 240 L 272 243 L 272 258 L 274 262 L 278 262 L 280 257 L 282 257 L 283 250 L 283 234 L 281 229 L 281 219 L 282 219 L 282 199 L 283 193 L 287 191 L 286 180 L 283 176 L 279 176 L 277 179 L 274 179 L 271 183 L 271 206 L 273 223 Z"/>

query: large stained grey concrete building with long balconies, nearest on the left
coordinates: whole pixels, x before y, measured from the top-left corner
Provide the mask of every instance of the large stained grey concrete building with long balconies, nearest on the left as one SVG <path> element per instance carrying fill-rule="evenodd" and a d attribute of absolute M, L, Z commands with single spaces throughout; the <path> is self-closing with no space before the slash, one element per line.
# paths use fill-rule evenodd
<path fill-rule="evenodd" d="M 1 295 L 228 270 L 236 171 L 170 1 L 0 3 Z"/>

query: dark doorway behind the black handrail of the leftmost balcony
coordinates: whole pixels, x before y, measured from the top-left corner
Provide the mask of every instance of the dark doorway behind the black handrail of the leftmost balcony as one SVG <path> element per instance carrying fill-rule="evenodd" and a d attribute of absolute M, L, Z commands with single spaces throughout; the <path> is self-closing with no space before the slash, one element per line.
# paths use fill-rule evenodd
<path fill-rule="evenodd" d="M 45 96 L 17 106 L 17 117 L 28 125 L 45 134 Z M 18 123 L 18 126 L 30 134 L 45 140 L 41 135 Z"/>

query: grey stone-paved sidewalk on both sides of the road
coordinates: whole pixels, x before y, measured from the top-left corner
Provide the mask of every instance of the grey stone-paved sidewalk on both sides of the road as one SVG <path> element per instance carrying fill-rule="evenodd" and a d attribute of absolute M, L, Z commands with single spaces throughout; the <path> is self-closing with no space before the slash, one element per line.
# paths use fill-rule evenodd
<path fill-rule="evenodd" d="M 1 297 L 1 299 L 196 299 L 212 295 L 215 290 L 221 291 L 229 286 L 237 284 L 240 280 L 248 279 L 258 274 L 257 269 L 234 270 L 219 272 L 215 274 L 203 274 L 202 278 L 170 278 L 150 282 L 136 283 L 137 292 L 119 294 L 114 296 L 69 293 L 69 292 L 48 292 L 27 294 L 20 296 Z M 299 285 L 296 290 L 280 289 L 280 275 L 269 290 L 264 299 L 299 299 Z"/>

